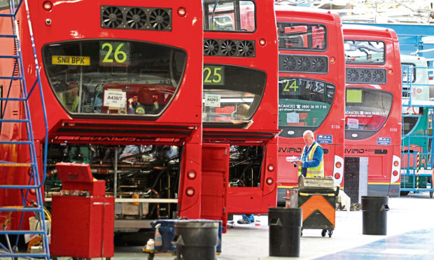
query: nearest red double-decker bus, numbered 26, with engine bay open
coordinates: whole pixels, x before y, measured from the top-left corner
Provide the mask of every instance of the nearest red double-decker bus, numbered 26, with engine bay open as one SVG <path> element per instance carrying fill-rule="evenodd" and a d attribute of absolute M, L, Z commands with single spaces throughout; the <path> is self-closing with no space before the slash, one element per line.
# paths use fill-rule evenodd
<path fill-rule="evenodd" d="M 35 140 L 49 143 L 45 194 L 59 192 L 57 162 L 80 162 L 116 196 L 115 228 L 199 218 L 202 3 L 38 0 L 29 11 L 48 113 L 45 140 L 41 103 L 30 100 Z M 85 19 L 66 21 L 69 15 Z M 27 22 L 20 29 L 26 78 L 34 82 Z M 20 138 L 19 129 L 1 128 L 2 136 L 15 133 Z M 27 169 L 14 176 L 25 182 Z"/>

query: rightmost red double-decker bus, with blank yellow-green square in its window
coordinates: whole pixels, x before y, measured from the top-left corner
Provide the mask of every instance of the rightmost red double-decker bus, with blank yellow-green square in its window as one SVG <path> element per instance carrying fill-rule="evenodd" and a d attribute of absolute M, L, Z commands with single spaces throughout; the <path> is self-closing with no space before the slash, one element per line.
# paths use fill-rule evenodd
<path fill-rule="evenodd" d="M 346 58 L 344 191 L 399 196 L 401 66 L 392 29 L 344 25 Z"/>

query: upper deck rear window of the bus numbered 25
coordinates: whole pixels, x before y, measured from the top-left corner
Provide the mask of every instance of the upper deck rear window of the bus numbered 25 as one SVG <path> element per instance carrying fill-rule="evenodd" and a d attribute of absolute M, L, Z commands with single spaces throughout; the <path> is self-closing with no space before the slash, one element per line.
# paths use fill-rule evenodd
<path fill-rule="evenodd" d="M 247 31 L 256 29 L 255 3 L 250 0 L 205 0 L 205 31 Z"/>

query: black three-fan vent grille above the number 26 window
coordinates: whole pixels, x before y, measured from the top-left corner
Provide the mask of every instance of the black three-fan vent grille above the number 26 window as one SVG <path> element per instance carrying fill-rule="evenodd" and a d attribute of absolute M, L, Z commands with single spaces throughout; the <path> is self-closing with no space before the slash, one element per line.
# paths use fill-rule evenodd
<path fill-rule="evenodd" d="M 104 29 L 172 31 L 172 9 L 101 6 L 101 27 Z"/>

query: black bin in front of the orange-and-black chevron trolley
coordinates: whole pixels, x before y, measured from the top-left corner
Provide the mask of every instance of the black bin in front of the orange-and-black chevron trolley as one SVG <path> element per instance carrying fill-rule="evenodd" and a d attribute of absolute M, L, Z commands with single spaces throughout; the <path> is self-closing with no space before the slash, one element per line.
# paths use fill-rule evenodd
<path fill-rule="evenodd" d="M 269 256 L 300 257 L 301 208 L 268 208 Z"/>

